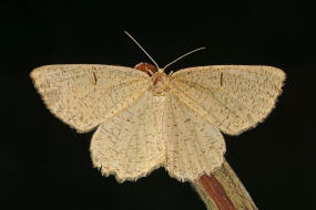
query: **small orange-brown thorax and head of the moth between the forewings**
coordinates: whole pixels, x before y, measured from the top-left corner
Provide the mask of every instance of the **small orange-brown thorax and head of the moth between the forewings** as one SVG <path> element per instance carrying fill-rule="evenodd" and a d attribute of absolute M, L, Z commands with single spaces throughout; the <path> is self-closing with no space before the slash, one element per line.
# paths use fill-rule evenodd
<path fill-rule="evenodd" d="M 169 92 L 169 76 L 161 71 L 157 71 L 152 76 L 151 91 L 154 95 L 165 95 Z"/>

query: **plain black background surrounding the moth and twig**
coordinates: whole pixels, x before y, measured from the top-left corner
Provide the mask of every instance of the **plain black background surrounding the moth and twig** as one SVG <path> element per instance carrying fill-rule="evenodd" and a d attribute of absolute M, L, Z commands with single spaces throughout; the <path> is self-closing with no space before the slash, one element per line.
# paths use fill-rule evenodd
<path fill-rule="evenodd" d="M 268 118 L 235 137 L 226 158 L 259 209 L 314 209 L 315 7 L 304 1 L 18 1 L 1 7 L 1 196 L 33 209 L 205 209 L 188 183 L 153 171 L 101 177 L 77 134 L 45 109 L 29 73 L 45 64 L 264 64 L 287 74 Z"/>

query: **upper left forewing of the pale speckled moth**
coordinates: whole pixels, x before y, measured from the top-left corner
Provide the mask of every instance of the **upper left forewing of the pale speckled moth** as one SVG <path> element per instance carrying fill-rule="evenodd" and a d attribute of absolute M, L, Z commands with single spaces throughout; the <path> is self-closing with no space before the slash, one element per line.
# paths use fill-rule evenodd
<path fill-rule="evenodd" d="M 31 72 L 47 107 L 80 133 L 133 104 L 149 86 L 149 76 L 114 65 L 45 65 Z"/>

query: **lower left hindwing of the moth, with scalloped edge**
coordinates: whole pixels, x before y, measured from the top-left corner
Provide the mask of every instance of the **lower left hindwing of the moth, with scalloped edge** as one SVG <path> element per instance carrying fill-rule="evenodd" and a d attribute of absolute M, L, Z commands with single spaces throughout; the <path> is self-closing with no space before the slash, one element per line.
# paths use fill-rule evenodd
<path fill-rule="evenodd" d="M 151 92 L 99 126 L 90 151 L 94 167 L 118 181 L 136 180 L 165 160 Z"/>

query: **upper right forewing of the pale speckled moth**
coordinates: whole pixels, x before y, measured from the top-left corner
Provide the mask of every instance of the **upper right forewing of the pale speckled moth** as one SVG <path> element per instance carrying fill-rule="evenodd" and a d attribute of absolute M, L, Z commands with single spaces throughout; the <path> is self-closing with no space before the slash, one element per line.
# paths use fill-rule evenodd
<path fill-rule="evenodd" d="M 237 135 L 265 119 L 284 80 L 272 66 L 200 66 L 174 73 L 171 91 L 222 132 Z"/>

